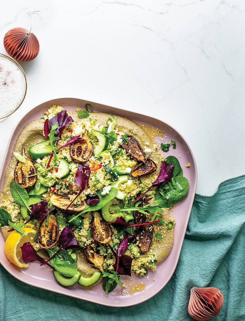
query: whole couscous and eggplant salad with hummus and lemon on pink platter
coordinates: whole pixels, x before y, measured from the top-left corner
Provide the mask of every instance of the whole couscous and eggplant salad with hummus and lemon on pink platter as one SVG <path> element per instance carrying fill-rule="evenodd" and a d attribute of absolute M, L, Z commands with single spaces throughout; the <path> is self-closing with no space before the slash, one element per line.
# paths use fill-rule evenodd
<path fill-rule="evenodd" d="M 174 204 L 188 193 L 178 159 L 139 124 L 53 105 L 27 124 L 14 145 L 0 194 L 5 254 L 20 268 L 33 261 L 62 286 L 145 276 L 169 255 Z M 44 266 L 43 266 L 44 265 Z"/>

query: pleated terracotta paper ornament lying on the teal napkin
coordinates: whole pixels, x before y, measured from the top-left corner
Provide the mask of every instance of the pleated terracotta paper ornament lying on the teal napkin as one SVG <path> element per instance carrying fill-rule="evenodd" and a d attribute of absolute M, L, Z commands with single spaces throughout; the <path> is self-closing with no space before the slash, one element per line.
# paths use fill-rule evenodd
<path fill-rule="evenodd" d="M 192 288 L 188 312 L 195 320 L 208 320 L 218 317 L 224 297 L 216 288 Z"/>

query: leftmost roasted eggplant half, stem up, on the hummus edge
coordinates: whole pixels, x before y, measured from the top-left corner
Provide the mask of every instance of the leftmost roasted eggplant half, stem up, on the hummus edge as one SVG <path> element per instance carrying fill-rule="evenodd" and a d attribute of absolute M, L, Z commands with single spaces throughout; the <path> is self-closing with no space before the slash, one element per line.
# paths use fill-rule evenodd
<path fill-rule="evenodd" d="M 25 163 L 19 161 L 14 170 L 14 181 L 24 188 L 33 186 L 37 181 L 37 176 L 28 177 L 37 174 L 34 163 L 26 156 L 24 147 L 22 148 L 22 156 L 26 160 Z"/>

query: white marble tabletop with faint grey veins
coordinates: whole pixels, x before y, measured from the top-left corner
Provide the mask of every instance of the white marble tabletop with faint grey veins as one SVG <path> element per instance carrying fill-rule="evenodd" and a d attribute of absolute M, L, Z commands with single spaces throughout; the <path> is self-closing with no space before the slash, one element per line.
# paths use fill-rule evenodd
<path fill-rule="evenodd" d="M 195 155 L 197 192 L 245 173 L 243 0 L 4 1 L 0 52 L 14 27 L 33 28 L 40 52 L 21 63 L 28 90 L 0 122 L 0 165 L 13 127 L 41 102 L 76 97 L 154 115 Z M 35 20 L 35 17 L 33 17 Z"/>

